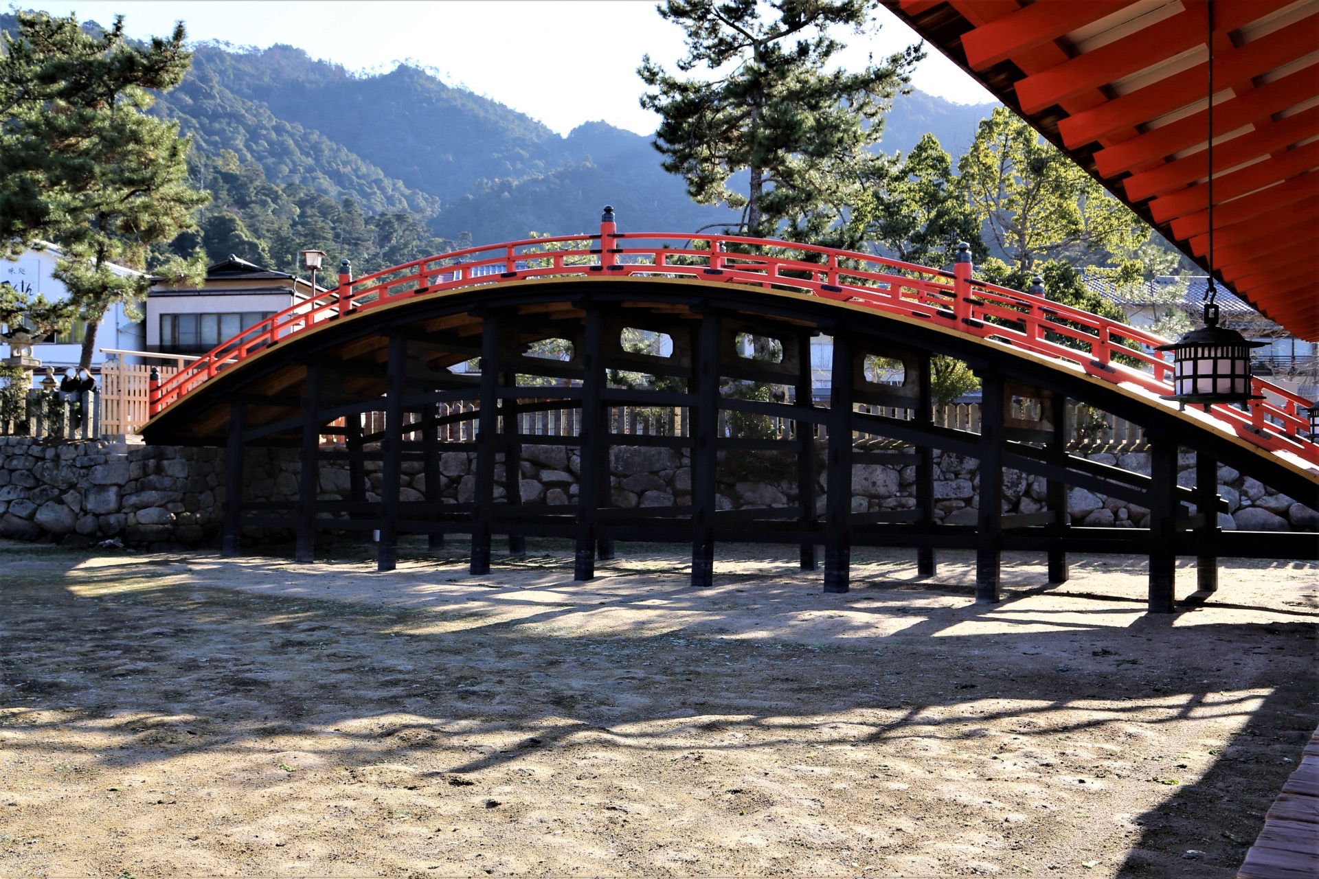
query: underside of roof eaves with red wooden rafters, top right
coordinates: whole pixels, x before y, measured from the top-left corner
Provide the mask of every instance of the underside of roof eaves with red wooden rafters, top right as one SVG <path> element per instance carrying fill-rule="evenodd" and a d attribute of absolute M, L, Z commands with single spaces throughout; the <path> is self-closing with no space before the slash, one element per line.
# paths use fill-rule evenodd
<path fill-rule="evenodd" d="M 1237 294 L 1319 340 L 1315 281 L 1298 265 L 1304 257 L 1293 258 L 1319 252 L 1319 146 L 1306 142 L 1319 138 L 1319 0 L 1213 0 L 1213 266 L 1206 0 L 1182 0 L 1146 25 L 1154 11 L 1136 0 L 888 5 Z M 1126 30 L 1086 49 L 1103 37 L 1095 24 Z M 1084 41 L 1074 43 L 1082 29 Z M 1169 63 L 1198 46 L 1190 67 Z M 1148 82 L 1117 94 L 1136 76 Z"/>

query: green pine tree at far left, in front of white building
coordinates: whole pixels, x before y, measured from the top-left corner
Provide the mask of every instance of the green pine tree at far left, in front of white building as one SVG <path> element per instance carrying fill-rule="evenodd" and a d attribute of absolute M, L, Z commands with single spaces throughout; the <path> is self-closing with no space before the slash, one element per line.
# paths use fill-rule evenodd
<path fill-rule="evenodd" d="M 200 265 L 149 266 L 150 246 L 194 225 L 207 202 L 187 181 L 178 125 L 146 115 L 153 92 L 187 72 L 183 28 L 149 46 L 124 38 L 123 17 L 91 34 L 77 18 L 18 13 L 0 58 L 0 236 L 9 256 L 40 241 L 59 246 L 54 277 L 67 312 L 87 322 L 80 365 L 91 364 L 96 326 L 115 303 L 132 307 L 150 278 L 121 265 L 195 277 Z"/>

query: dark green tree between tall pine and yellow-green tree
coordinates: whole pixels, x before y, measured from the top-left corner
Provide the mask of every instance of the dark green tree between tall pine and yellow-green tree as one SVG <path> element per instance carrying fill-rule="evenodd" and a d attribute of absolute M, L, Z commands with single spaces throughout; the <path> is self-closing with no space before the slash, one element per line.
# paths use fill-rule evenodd
<path fill-rule="evenodd" d="M 952 157 L 934 134 L 925 134 L 901 166 L 871 194 L 864 237 L 898 260 L 943 266 L 959 241 L 971 242 L 979 262 L 987 256 L 980 220 L 952 173 Z"/>

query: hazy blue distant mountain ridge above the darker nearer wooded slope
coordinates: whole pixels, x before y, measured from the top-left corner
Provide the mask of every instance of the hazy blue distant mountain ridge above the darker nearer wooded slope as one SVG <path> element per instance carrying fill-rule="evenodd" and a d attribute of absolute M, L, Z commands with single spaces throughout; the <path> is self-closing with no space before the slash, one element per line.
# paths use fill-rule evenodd
<path fill-rule="evenodd" d="M 13 26 L 12 14 L 0 14 L 0 28 Z M 933 132 L 958 156 L 992 108 L 900 96 L 880 148 L 906 152 Z M 434 235 L 450 240 L 582 232 L 605 203 L 634 231 L 733 220 L 727 208 L 692 203 L 648 136 L 591 121 L 563 137 L 408 65 L 359 75 L 293 46 L 202 42 L 193 70 L 153 112 L 177 119 L 206 162 L 236 158 L 260 166 L 272 184 L 351 196 L 368 215 L 427 216 Z"/>

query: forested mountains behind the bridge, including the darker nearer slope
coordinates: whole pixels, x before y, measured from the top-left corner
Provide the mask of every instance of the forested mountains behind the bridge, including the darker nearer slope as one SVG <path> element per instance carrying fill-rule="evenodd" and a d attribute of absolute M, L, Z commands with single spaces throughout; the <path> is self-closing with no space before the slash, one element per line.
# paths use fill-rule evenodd
<path fill-rule="evenodd" d="M 13 24 L 0 14 L 0 28 Z M 894 101 L 881 146 L 906 152 L 930 130 L 958 154 L 991 109 L 913 92 Z M 318 246 L 360 273 L 460 239 L 590 231 L 607 203 L 633 231 L 732 219 L 694 204 L 649 137 L 603 121 L 562 137 L 406 65 L 359 75 L 291 46 L 200 43 L 153 112 L 193 137 L 194 181 L 214 195 L 178 252 L 200 241 L 215 258 L 291 270 L 299 249 Z"/>

